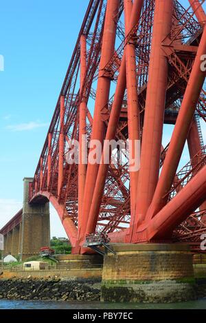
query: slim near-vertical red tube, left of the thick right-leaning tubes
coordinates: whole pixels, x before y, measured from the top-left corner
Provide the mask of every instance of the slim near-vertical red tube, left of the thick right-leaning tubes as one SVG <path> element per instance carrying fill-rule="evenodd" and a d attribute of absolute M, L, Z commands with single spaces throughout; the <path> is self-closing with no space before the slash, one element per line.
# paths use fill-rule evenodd
<path fill-rule="evenodd" d="M 80 38 L 80 93 L 83 90 L 84 79 L 87 72 L 87 42 L 86 36 L 82 35 Z M 87 118 L 87 101 L 85 98 L 85 91 L 82 96 L 82 102 L 80 103 L 79 112 L 79 165 L 78 165 L 78 229 L 80 229 L 82 222 L 82 203 L 84 199 L 84 186 L 87 174 L 87 147 L 85 150 L 83 138 L 87 135 L 86 132 L 86 118 Z"/>

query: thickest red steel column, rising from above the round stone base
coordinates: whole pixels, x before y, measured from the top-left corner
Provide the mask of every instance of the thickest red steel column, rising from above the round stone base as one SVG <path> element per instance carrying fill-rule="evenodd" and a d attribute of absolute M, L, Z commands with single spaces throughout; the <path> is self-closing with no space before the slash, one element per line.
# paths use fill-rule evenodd
<path fill-rule="evenodd" d="M 135 218 L 131 219 L 131 226 L 134 225 L 134 222 L 144 220 L 159 178 L 165 93 L 168 85 L 168 60 L 161 45 L 170 33 L 172 12 L 173 0 L 155 1 L 137 206 Z"/>

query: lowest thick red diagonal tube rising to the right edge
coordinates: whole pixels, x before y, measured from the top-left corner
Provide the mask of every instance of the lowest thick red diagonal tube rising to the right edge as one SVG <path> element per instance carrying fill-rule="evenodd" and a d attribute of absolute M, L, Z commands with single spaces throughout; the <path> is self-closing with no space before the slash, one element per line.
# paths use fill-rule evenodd
<path fill-rule="evenodd" d="M 206 199 L 206 166 L 148 224 L 148 240 L 170 238 L 172 230 Z M 140 228 L 139 228 L 140 229 Z"/>

